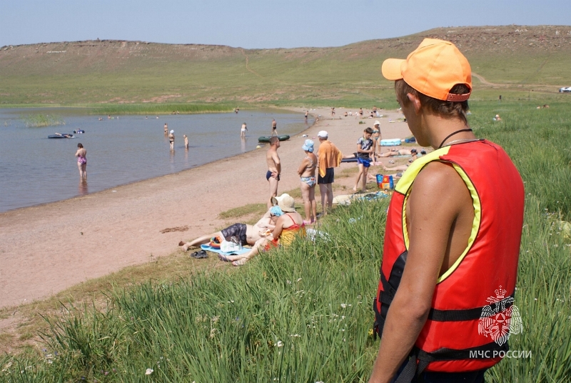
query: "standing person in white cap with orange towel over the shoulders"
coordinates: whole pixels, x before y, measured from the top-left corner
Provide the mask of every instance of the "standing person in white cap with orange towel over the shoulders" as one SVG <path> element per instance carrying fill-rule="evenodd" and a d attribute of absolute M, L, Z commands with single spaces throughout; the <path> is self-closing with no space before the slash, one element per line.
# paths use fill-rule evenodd
<path fill-rule="evenodd" d="M 327 131 L 322 130 L 318 134 L 319 149 L 317 152 L 317 167 L 319 173 L 317 177 L 317 184 L 319 185 L 319 192 L 321 194 L 321 214 L 325 215 L 328 209 L 333 207 L 333 181 L 335 181 L 335 171 L 333 168 L 341 164 L 343 154 L 337 149 L 331 141 L 329 141 L 329 134 Z"/>

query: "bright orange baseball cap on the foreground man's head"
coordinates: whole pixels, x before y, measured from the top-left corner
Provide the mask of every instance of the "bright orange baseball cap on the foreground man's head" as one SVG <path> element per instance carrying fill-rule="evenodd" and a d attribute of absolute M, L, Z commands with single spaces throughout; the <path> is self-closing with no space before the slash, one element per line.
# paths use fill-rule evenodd
<path fill-rule="evenodd" d="M 388 80 L 404 79 L 420 93 L 443 101 L 466 101 L 472 93 L 468 59 L 450 41 L 424 39 L 405 60 L 386 59 L 381 71 Z M 465 84 L 470 92 L 451 94 L 456 84 Z"/>

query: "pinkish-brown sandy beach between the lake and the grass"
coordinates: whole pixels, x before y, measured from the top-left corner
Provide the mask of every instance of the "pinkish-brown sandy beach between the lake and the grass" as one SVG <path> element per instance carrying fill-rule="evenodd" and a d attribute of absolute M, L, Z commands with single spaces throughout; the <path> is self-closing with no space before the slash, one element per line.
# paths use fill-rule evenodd
<path fill-rule="evenodd" d="M 330 109 L 312 111 L 321 115 L 318 123 L 281 143 L 278 194 L 299 187 L 296 170 L 305 155 L 302 134 L 313 139 L 317 148 L 318 131 L 327 130 L 330 141 L 343 153 L 355 151 L 363 129 L 372 127 L 375 119 L 343 117 L 345 110 L 337 109 L 336 119 L 331 119 Z M 303 111 L 296 111 L 303 119 Z M 406 123 L 388 122 L 402 114 L 381 113 L 385 115 L 379 119 L 383 139 L 410 136 Z M 213 232 L 225 224 L 218 219 L 220 212 L 265 203 L 266 149 L 85 197 L 1 213 L 0 307 L 44 299 L 87 279 L 149 262 L 151 254 L 173 254 L 180 251 L 181 239 Z M 341 164 L 341 169 L 350 166 L 356 165 Z M 372 169 L 374 174 L 380 168 Z M 335 182 L 353 187 L 354 179 Z M 188 226 L 185 232 L 161 233 L 184 226 Z"/>

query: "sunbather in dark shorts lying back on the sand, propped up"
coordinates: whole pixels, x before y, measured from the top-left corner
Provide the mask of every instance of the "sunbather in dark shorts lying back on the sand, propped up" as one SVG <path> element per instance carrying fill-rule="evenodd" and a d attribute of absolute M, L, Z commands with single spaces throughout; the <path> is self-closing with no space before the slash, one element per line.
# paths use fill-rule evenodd
<path fill-rule="evenodd" d="M 220 237 L 230 241 L 231 237 L 237 237 L 242 245 L 254 245 L 258 239 L 262 238 L 262 234 L 265 234 L 268 230 L 273 230 L 276 225 L 276 220 L 283 214 L 279 207 L 272 207 L 271 209 L 263 215 L 263 217 L 256 222 L 255 225 L 248 224 L 233 224 L 226 229 L 222 229 L 220 232 L 215 232 L 211 234 L 206 234 L 197 239 L 193 239 L 191 242 L 179 242 L 178 246 L 183 247 L 183 251 L 188 251 L 191 247 L 198 247 L 201 244 L 208 244 L 210 240 L 214 237 Z"/>

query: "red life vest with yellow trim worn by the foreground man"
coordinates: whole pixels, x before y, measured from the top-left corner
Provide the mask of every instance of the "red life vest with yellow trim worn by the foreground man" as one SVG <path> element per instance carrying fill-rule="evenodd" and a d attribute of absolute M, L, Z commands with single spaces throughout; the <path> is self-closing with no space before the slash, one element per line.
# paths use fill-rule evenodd
<path fill-rule="evenodd" d="M 475 217 L 463 254 L 438 278 L 428 320 L 413 349 L 411 360 L 418 363 L 413 368 L 420 373 L 423 369 L 468 372 L 492 367 L 500 362 L 499 352 L 507 351 L 510 317 L 512 309 L 517 310 L 512 304 L 525 196 L 514 164 L 490 141 L 433 151 L 414 161 L 398 182 L 388 209 L 373 304 L 375 330 L 383 334 L 408 255 L 405 205 L 415 177 L 430 161 L 449 163 L 458 171 L 473 199 Z"/>

